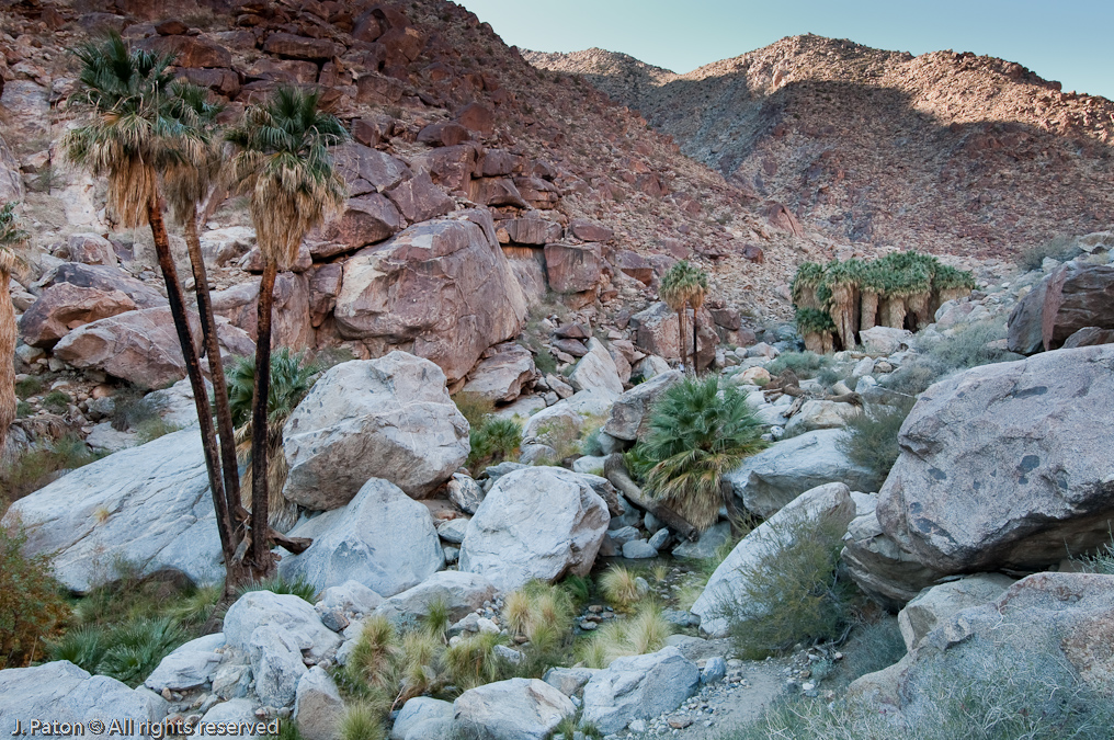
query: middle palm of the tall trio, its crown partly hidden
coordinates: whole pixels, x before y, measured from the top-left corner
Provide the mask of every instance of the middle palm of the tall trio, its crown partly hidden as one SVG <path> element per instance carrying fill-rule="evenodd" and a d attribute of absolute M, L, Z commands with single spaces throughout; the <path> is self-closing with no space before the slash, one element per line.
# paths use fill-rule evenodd
<path fill-rule="evenodd" d="M 202 256 L 201 238 L 197 234 L 197 205 L 209 197 L 221 172 L 221 142 L 214 136 L 216 116 L 222 106 L 208 101 L 208 91 L 184 82 L 175 82 L 170 87 L 169 115 L 183 127 L 185 136 L 196 140 L 198 146 L 190 147 L 190 154 L 198 158 L 182 157 L 174 162 L 163 173 L 163 184 L 166 199 L 170 206 L 170 216 L 182 227 L 189 252 L 189 264 L 194 273 L 194 285 L 197 295 L 197 312 L 201 314 L 202 333 L 205 343 L 205 354 L 208 357 L 209 377 L 213 380 L 213 398 L 216 407 L 217 431 L 221 440 L 221 467 L 224 471 L 224 490 L 231 520 L 235 525 L 235 541 L 243 538 L 240 500 L 240 476 L 236 465 L 236 431 L 233 425 L 232 411 L 228 408 L 228 391 L 224 377 L 224 362 L 221 359 L 216 319 L 213 315 L 213 302 L 209 298 L 208 274 L 205 270 L 205 259 Z"/>

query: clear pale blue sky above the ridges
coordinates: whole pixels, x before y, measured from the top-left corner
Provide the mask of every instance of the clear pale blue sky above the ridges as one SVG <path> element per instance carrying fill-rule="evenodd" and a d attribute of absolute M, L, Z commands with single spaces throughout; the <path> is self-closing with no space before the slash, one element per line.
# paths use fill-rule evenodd
<path fill-rule="evenodd" d="M 1114 0 L 459 0 L 508 45 L 599 47 L 687 72 L 785 36 L 1016 61 L 1114 99 Z"/>

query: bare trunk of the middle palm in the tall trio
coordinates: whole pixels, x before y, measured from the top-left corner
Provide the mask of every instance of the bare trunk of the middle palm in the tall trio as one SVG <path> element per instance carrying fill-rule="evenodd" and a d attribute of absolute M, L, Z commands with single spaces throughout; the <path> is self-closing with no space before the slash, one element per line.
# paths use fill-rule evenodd
<path fill-rule="evenodd" d="M 224 469 L 224 491 L 228 502 L 232 532 L 236 532 L 234 541 L 242 538 L 242 523 L 236 516 L 240 506 L 240 475 L 236 464 L 236 428 L 232 423 L 232 410 L 228 406 L 228 387 L 224 377 L 224 361 L 221 359 L 221 347 L 216 331 L 216 319 L 213 315 L 213 301 L 209 298 L 208 275 L 205 270 L 205 259 L 202 256 L 202 243 L 197 236 L 197 210 L 193 210 L 185 223 L 186 247 L 189 250 L 189 263 L 194 270 L 194 283 L 197 285 L 197 312 L 202 317 L 202 332 L 205 335 L 205 354 L 209 361 L 209 377 L 213 380 L 213 395 L 216 405 L 216 425 L 221 438 L 221 467 Z"/>

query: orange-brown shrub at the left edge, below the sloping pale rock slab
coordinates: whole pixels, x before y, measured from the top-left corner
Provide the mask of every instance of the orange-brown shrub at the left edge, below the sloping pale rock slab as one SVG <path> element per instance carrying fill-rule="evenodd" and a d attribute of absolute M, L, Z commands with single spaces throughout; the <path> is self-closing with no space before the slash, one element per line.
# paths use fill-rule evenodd
<path fill-rule="evenodd" d="M 50 558 L 23 555 L 27 533 L 0 526 L 0 669 L 27 665 L 69 615 Z"/>

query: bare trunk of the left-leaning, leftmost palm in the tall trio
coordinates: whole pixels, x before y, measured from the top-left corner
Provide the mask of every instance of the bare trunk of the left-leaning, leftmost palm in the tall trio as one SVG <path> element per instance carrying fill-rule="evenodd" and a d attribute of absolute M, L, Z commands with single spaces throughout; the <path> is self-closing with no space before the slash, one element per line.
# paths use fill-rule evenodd
<path fill-rule="evenodd" d="M 178 281 L 178 271 L 174 266 L 174 257 L 170 254 L 170 240 L 166 234 L 166 224 L 163 222 L 163 203 L 160 196 L 156 195 L 147 205 L 147 217 L 150 222 L 152 236 L 155 240 L 155 253 L 158 255 L 158 265 L 162 267 L 163 279 L 166 281 L 166 295 L 170 302 L 170 315 L 174 317 L 174 327 L 178 330 L 178 343 L 182 344 L 182 357 L 186 361 L 186 374 L 189 377 L 189 384 L 194 390 L 197 421 L 202 428 L 202 449 L 205 451 L 205 468 L 208 471 L 209 488 L 213 491 L 217 532 L 221 536 L 221 552 L 224 554 L 224 564 L 227 572 L 225 587 L 228 588 L 229 584 L 236 581 L 234 574 L 238 572 L 234 557 L 236 546 L 232 537 L 228 502 L 225 498 L 217 463 L 216 435 L 213 431 L 213 412 L 209 410 L 208 391 L 205 389 L 205 378 L 202 376 L 201 363 L 197 361 L 197 351 L 194 349 L 194 340 L 189 332 L 182 283 Z"/>

